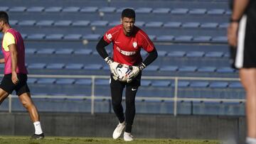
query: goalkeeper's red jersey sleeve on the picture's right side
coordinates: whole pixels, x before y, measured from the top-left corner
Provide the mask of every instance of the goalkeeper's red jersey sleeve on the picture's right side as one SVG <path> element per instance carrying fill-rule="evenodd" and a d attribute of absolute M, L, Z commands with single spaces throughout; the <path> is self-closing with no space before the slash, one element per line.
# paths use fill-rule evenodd
<path fill-rule="evenodd" d="M 144 31 L 139 31 L 139 37 L 141 39 L 142 48 L 146 50 L 146 52 L 154 50 L 154 43 L 150 40 L 149 36 L 144 33 Z"/>

